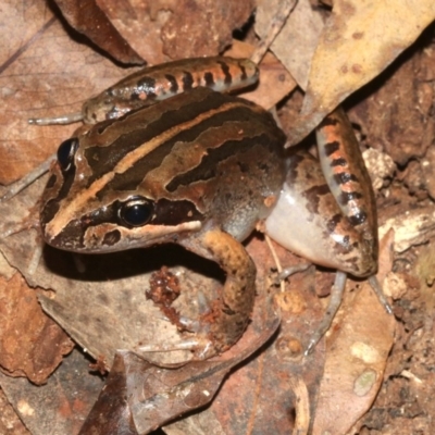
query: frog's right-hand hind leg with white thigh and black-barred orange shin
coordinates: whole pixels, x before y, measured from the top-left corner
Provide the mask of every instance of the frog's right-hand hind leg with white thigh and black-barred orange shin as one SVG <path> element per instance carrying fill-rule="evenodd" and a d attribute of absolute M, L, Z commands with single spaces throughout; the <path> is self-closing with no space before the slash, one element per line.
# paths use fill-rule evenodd
<path fill-rule="evenodd" d="M 351 125 L 345 113 L 337 110 L 316 133 L 323 170 L 307 152 L 293 153 L 279 200 L 265 223 L 266 233 L 279 245 L 315 264 L 340 271 L 325 318 L 307 352 L 332 323 L 341 301 L 346 273 L 369 277 L 378 300 L 391 312 L 375 276 L 374 192 Z"/>

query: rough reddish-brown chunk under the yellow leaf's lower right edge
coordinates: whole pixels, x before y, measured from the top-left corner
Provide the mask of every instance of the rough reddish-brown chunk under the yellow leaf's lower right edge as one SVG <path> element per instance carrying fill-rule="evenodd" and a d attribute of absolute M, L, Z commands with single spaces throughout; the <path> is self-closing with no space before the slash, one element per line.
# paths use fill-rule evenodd
<path fill-rule="evenodd" d="M 353 113 L 371 147 L 386 151 L 405 166 L 411 159 L 422 158 L 435 135 L 432 122 L 435 53 L 431 49 L 433 26 L 419 38 L 408 53 L 369 85 L 370 97 L 360 101 Z M 382 84 L 382 86 L 380 86 Z M 430 160 L 430 154 L 426 154 Z M 432 164 L 422 165 L 427 172 Z M 423 182 L 431 182 L 425 176 Z M 433 191 L 433 190 L 432 190 Z"/>

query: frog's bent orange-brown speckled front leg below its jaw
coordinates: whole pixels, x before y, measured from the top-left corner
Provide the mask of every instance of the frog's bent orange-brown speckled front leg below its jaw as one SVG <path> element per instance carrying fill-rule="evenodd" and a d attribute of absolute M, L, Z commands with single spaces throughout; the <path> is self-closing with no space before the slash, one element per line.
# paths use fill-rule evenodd
<path fill-rule="evenodd" d="M 197 356 L 204 359 L 232 347 L 246 330 L 256 296 L 256 265 L 244 246 L 219 228 L 202 231 L 179 243 L 215 261 L 226 274 L 220 298 L 203 316 L 202 331 L 190 341 Z"/>

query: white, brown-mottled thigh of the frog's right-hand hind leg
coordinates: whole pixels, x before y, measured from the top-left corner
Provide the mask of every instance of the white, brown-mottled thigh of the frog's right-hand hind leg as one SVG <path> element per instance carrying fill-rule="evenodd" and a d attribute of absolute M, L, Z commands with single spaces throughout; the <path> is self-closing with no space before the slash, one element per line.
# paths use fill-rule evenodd
<path fill-rule="evenodd" d="M 316 170 L 312 167 L 311 175 Z M 365 276 L 372 268 L 372 250 L 340 213 L 331 192 L 318 203 L 303 183 L 284 184 L 279 199 L 265 220 L 266 234 L 284 248 L 325 268 Z M 297 182 L 297 179 L 296 179 Z M 321 185 L 318 185 L 321 186 Z"/>

